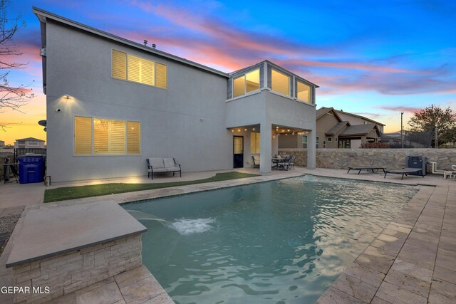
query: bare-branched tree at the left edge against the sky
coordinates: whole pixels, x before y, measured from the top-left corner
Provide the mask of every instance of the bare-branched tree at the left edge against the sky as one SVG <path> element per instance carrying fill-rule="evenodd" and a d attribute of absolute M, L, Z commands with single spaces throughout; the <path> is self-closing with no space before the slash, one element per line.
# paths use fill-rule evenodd
<path fill-rule="evenodd" d="M 8 6 L 8 0 L 0 0 L 0 112 L 6 109 L 20 111 L 21 105 L 33 98 L 33 89 L 28 88 L 28 85 L 11 85 L 8 81 L 11 70 L 18 70 L 27 65 L 14 61 L 14 58 L 22 55 L 14 35 L 26 26 L 26 23 L 21 21 L 21 16 L 9 20 L 6 14 Z M 0 124 L 0 128 L 5 130 L 6 125 L 8 124 Z"/>

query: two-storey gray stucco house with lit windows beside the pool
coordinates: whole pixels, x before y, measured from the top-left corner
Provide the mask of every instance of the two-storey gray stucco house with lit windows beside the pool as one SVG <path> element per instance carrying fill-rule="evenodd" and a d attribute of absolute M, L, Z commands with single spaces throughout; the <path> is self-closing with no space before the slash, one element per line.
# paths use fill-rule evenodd
<path fill-rule="evenodd" d="M 33 8 L 41 22 L 47 174 L 53 182 L 182 171 L 271 171 L 281 128 L 315 138 L 314 83 L 270 61 L 224 73 Z M 314 140 L 309 145 L 315 146 Z M 308 167 L 315 167 L 315 149 Z"/>

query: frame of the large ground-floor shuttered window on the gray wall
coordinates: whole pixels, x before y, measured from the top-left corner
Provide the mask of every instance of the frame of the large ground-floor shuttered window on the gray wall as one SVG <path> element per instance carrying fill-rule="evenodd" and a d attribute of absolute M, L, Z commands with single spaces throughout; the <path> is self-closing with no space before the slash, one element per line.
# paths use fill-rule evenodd
<path fill-rule="evenodd" d="M 91 127 L 90 127 L 90 145 L 91 145 L 91 152 L 90 154 L 76 154 L 76 117 L 86 117 L 90 118 L 91 120 Z M 93 132 L 94 132 L 94 119 L 102 119 L 102 120 L 122 120 L 125 122 L 125 154 L 110 154 L 110 153 L 105 153 L 105 154 L 95 154 L 94 152 L 94 147 L 93 147 Z M 138 154 L 129 154 L 128 153 L 128 122 L 138 122 L 139 123 L 139 148 L 140 152 Z M 107 117 L 93 117 L 93 116 L 88 116 L 88 115 L 73 115 L 73 157 L 125 157 L 125 156 L 141 156 L 142 155 L 142 121 L 140 120 L 125 120 L 125 119 L 120 119 L 120 118 L 107 118 Z"/>

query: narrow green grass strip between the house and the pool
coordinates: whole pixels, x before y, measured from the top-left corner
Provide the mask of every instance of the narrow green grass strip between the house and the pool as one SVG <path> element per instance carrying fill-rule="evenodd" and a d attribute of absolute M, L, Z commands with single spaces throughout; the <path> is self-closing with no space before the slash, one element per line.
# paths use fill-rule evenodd
<path fill-rule="evenodd" d="M 125 192 L 134 192 L 150 189 L 160 189 L 175 186 L 185 186 L 187 184 L 202 184 L 207 182 L 226 181 L 228 179 L 242 179 L 245 177 L 258 177 L 257 174 L 248 174 L 242 172 L 225 172 L 217 173 L 214 177 L 208 179 L 197 179 L 187 182 L 165 182 L 157 184 L 94 184 L 89 186 L 62 187 L 46 190 L 44 192 L 44 202 L 65 201 L 67 199 L 82 199 L 83 197 L 100 196 L 108 194 L 117 194 Z"/>

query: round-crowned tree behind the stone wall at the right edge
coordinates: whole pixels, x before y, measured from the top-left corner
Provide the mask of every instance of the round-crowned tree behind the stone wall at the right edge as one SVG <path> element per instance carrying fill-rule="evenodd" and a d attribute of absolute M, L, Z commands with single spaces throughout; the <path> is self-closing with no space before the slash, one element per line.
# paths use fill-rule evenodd
<path fill-rule="evenodd" d="M 408 121 L 410 130 L 427 132 L 437 127 L 437 140 L 439 145 L 456 141 L 456 113 L 450 107 L 442 109 L 437 105 L 430 105 L 423 110 L 415 112 Z M 432 133 L 434 136 L 434 133 Z M 435 138 L 433 139 L 435 142 Z"/>

